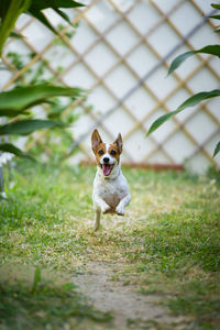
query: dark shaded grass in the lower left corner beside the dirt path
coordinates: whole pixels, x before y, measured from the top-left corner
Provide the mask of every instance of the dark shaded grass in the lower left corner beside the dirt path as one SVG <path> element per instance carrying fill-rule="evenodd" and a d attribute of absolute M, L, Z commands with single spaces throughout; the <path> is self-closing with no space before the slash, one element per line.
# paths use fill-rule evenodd
<path fill-rule="evenodd" d="M 112 316 L 90 306 L 73 283 L 41 280 L 37 272 L 33 284 L 0 280 L 0 328 L 79 329 L 87 321 L 94 329 L 96 323 L 111 321 Z"/>

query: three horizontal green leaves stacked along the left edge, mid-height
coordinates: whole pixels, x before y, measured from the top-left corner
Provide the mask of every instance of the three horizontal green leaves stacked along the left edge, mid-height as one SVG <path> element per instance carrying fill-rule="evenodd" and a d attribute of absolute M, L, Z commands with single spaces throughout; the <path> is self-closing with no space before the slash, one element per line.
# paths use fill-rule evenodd
<path fill-rule="evenodd" d="M 30 107 L 40 105 L 42 102 L 50 102 L 48 99 L 54 96 L 67 96 L 72 99 L 76 99 L 81 96 L 82 90 L 79 88 L 67 88 L 61 86 L 51 86 L 51 85 L 36 85 L 36 86 L 23 86 L 14 88 L 10 91 L 4 91 L 0 94 L 0 117 L 15 117 L 18 114 L 26 114 L 26 110 Z M 54 105 L 54 103 L 52 103 Z M 64 107 L 58 109 L 59 111 L 64 110 Z M 57 110 L 57 111 L 58 111 Z M 28 113 L 29 114 L 29 113 Z M 52 116 L 52 113 L 51 113 Z M 53 117 L 53 116 L 52 116 Z M 54 113 L 55 119 L 59 119 L 57 113 Z M 7 134 L 20 134 L 26 135 L 35 130 L 51 129 L 51 128 L 64 128 L 64 124 L 61 122 L 55 122 L 54 120 L 16 120 L 15 122 L 0 125 L 0 135 Z M 28 156 L 26 153 L 23 153 L 18 147 L 13 145 L 4 145 L 4 150 L 10 150 L 11 153 L 19 155 L 20 157 Z"/>

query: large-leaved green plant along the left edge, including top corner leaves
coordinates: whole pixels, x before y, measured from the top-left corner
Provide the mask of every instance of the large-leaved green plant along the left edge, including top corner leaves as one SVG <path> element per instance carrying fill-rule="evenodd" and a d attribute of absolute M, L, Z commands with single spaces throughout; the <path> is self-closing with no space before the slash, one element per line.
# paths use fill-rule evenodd
<path fill-rule="evenodd" d="M 21 13 L 31 14 L 51 31 L 57 33 L 56 29 L 50 23 L 42 10 L 52 8 L 64 20 L 70 23 L 68 15 L 59 8 L 76 8 L 81 6 L 81 3 L 73 0 L 2 0 L 0 2 L 0 56 L 2 54 L 3 45 L 7 38 L 12 35 L 12 30 Z M 11 54 L 11 56 L 15 62 L 16 68 L 20 69 L 22 66 L 21 58 L 19 56 L 14 57 L 14 54 Z M 38 81 L 35 82 L 37 84 Z M 61 123 L 48 119 L 20 120 L 16 118 L 19 114 L 29 114 L 30 112 L 28 112 L 28 110 L 30 110 L 31 107 L 43 102 L 51 102 L 50 99 L 57 96 L 67 96 L 75 99 L 81 96 L 81 90 L 78 88 L 40 84 L 37 86 L 13 88 L 10 91 L 2 92 L 0 95 L 0 117 L 13 118 L 13 121 L 15 120 L 15 122 L 0 125 L 0 135 L 30 134 L 38 129 L 63 127 Z M 0 144 L 0 151 L 28 157 L 25 153 L 10 143 Z"/>

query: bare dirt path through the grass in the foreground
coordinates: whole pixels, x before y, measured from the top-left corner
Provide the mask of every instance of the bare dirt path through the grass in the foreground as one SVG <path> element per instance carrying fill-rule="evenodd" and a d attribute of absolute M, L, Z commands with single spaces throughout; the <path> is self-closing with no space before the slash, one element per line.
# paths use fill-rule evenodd
<path fill-rule="evenodd" d="M 73 280 L 96 308 L 113 314 L 111 329 L 158 329 L 156 324 L 183 329 L 183 318 L 170 317 L 168 310 L 157 304 L 161 297 L 138 294 L 135 286 L 112 280 L 122 270 L 116 264 L 89 262 L 86 272 Z"/>

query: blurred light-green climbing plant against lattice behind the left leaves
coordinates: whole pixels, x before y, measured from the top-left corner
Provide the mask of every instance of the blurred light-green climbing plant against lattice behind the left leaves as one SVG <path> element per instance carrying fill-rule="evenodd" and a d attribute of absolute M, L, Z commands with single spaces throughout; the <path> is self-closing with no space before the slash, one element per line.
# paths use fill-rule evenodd
<path fill-rule="evenodd" d="M 64 26 L 59 26 L 58 29 L 63 29 Z M 72 36 L 69 36 L 72 37 Z M 66 45 L 64 43 L 61 43 L 62 47 L 66 47 Z M 65 48 L 64 48 L 65 52 Z M 63 53 L 62 53 L 63 54 Z M 59 55 L 62 58 L 62 54 Z M 33 56 L 35 56 L 34 53 L 30 53 L 28 55 L 22 55 L 22 54 L 18 54 L 18 53 L 8 53 L 7 57 L 10 61 L 12 66 L 15 66 L 15 68 L 20 69 L 24 66 L 24 63 L 26 62 L 26 58 L 32 58 Z M 62 69 L 62 68 L 61 68 Z M 57 72 L 61 72 L 59 68 L 57 68 Z M 37 87 L 38 85 L 42 85 L 42 92 L 44 92 L 44 87 L 43 86 L 50 86 L 48 82 L 53 81 L 56 79 L 55 76 L 51 76 L 50 78 L 44 78 L 45 76 L 45 72 L 47 70 L 47 62 L 41 61 L 37 65 L 37 67 L 34 68 L 30 68 L 29 70 L 26 70 L 23 75 L 21 75 L 15 84 L 16 86 L 19 86 L 19 88 L 24 88 L 28 87 L 26 84 L 30 85 L 36 85 L 36 87 L 34 87 L 34 90 L 41 87 Z M 45 85 L 46 84 L 46 85 Z M 59 87 L 61 88 L 61 87 Z M 74 94 L 75 90 L 75 94 Z M 46 90 L 45 90 L 46 91 Z M 46 99 L 46 107 L 43 108 L 44 111 L 44 116 L 46 119 L 48 120 L 56 120 L 56 121 L 62 121 L 63 123 L 67 124 L 67 125 L 72 125 L 73 122 L 75 122 L 79 116 L 81 116 L 80 111 L 76 111 L 75 109 L 69 109 L 70 111 L 67 111 L 66 113 L 64 113 L 64 111 L 72 105 L 73 99 L 75 98 L 82 98 L 84 97 L 84 91 L 80 89 L 73 89 L 73 94 L 70 92 L 69 95 L 66 94 L 66 96 L 69 96 L 68 99 L 65 100 L 65 102 L 58 98 L 58 97 L 50 97 L 50 99 Z M 72 106 L 73 108 L 73 106 Z M 26 112 L 28 110 L 18 112 L 21 114 L 31 114 L 29 112 Z M 14 111 L 1 111 L 0 110 L 0 114 L 15 114 Z M 59 141 L 57 143 L 57 141 Z M 29 143 L 33 143 L 33 139 L 32 136 L 29 136 L 26 144 L 29 145 Z M 36 143 L 33 143 L 32 145 L 32 154 L 36 157 L 40 158 L 41 155 L 43 155 L 44 160 L 46 160 L 45 157 L 45 145 L 46 145 L 46 151 L 47 154 L 50 153 L 50 158 L 51 157 L 55 157 L 56 160 L 61 158 L 62 155 L 66 152 L 66 150 L 69 147 L 69 144 L 73 143 L 73 138 L 72 138 L 72 132 L 69 130 L 50 130 L 44 138 L 41 139 L 41 141 Z M 53 152 L 52 152 L 53 151 Z"/>

